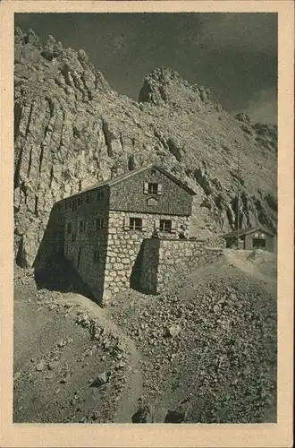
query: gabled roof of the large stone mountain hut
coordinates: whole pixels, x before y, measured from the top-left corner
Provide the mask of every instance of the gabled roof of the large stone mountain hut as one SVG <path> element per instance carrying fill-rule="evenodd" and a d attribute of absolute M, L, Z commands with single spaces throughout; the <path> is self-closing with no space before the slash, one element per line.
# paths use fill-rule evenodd
<path fill-rule="evenodd" d="M 123 182 L 124 180 L 129 179 L 130 177 L 132 177 L 136 174 L 139 174 L 143 171 L 146 171 L 147 169 L 150 169 L 150 168 L 157 169 L 158 171 L 163 173 L 164 176 L 169 177 L 173 182 L 175 182 L 175 184 L 180 185 L 181 188 L 183 188 L 183 190 L 186 190 L 188 193 L 190 193 L 192 195 L 196 194 L 193 190 L 191 190 L 191 188 L 189 186 L 183 184 L 177 177 L 174 177 L 172 174 L 170 174 L 164 168 L 160 167 L 159 165 L 151 164 L 144 168 L 134 169 L 132 171 L 129 171 L 128 173 L 122 174 L 121 176 L 117 176 L 117 177 L 114 177 L 111 179 L 104 180 L 102 182 L 98 182 L 97 184 L 91 185 L 88 188 L 85 188 L 78 193 L 72 194 L 72 196 L 69 196 L 68 198 L 65 198 L 65 199 L 69 199 L 70 197 L 74 197 L 74 196 L 79 196 L 80 194 L 90 192 L 92 190 L 97 190 L 99 188 L 102 188 L 103 186 L 113 186 L 113 185 L 119 184 L 120 182 Z M 63 199 L 63 201 L 65 199 Z"/>

